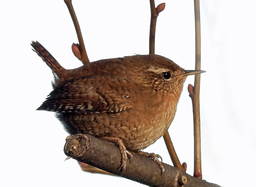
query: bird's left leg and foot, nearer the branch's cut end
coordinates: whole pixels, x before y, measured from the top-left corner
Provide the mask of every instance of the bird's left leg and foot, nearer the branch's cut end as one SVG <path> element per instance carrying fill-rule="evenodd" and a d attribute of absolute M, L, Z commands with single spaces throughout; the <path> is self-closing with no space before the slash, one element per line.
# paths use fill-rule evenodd
<path fill-rule="evenodd" d="M 123 144 L 123 141 L 120 138 L 104 136 L 104 137 L 100 137 L 100 139 L 111 142 L 115 144 L 117 147 L 119 147 L 119 150 L 121 152 L 121 166 L 120 166 L 121 173 L 120 174 L 123 175 L 126 167 L 127 158 L 129 158 L 129 160 L 132 161 L 132 158 L 133 158 L 132 153 L 126 149 L 126 147 Z"/>

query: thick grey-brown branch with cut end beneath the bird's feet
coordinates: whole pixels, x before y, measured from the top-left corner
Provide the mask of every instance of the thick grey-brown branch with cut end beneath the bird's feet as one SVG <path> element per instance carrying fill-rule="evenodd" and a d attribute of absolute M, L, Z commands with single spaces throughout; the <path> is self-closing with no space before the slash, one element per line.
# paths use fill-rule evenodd
<path fill-rule="evenodd" d="M 92 137 L 90 135 L 77 134 L 68 136 L 64 147 L 67 156 L 103 169 L 110 173 L 120 175 L 121 153 L 115 145 Z M 126 165 L 122 177 L 137 181 L 148 186 L 177 187 L 186 183 L 190 186 L 218 186 L 202 181 L 180 171 L 178 168 L 165 163 L 165 172 L 161 175 L 158 164 L 153 159 L 133 153 L 132 162 Z"/>

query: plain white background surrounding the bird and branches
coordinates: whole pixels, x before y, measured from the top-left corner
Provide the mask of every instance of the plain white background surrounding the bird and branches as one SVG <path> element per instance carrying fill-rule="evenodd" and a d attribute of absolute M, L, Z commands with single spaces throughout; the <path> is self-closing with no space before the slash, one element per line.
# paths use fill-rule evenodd
<path fill-rule="evenodd" d="M 158 5 L 163 1 L 156 1 Z M 74 9 L 90 61 L 148 54 L 149 1 L 79 1 Z M 241 186 L 255 175 L 255 2 L 208 0 L 201 8 L 200 109 L 203 179 Z M 39 41 L 66 69 L 81 62 L 63 1 L 1 3 L 1 183 L 3 186 L 140 186 L 126 179 L 80 171 L 65 161 L 68 135 L 54 114 L 36 111 L 51 92 L 52 73 L 31 50 Z M 194 69 L 193 1 L 166 1 L 157 19 L 155 53 Z M 169 128 L 181 162 L 193 175 L 193 117 L 187 85 Z M 163 139 L 145 149 L 171 164 Z M 249 181 L 249 182 L 248 182 Z M 253 184 L 252 184 L 253 185 Z"/>

